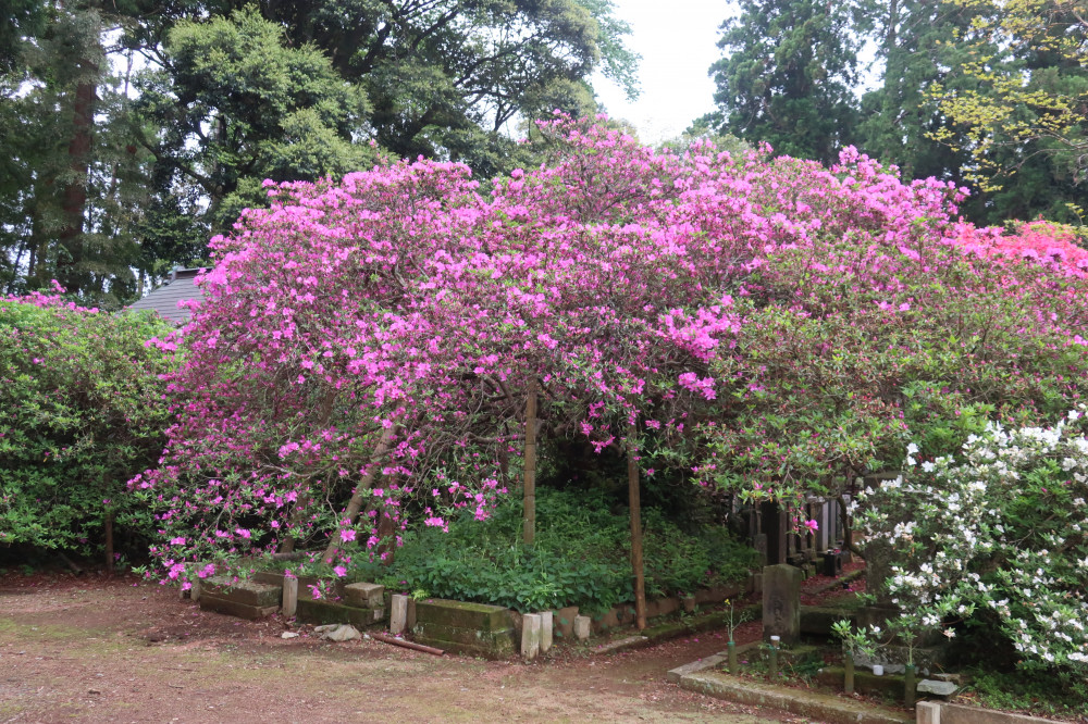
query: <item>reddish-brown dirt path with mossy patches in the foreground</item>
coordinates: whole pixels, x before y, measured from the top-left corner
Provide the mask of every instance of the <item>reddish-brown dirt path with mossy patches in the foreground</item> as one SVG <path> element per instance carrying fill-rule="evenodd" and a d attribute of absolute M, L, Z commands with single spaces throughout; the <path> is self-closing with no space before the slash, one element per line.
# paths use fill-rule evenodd
<path fill-rule="evenodd" d="M 134 579 L 5 576 L 0 722 L 800 721 L 666 682 L 725 648 L 721 633 L 523 665 L 285 640 L 286 628 L 205 613 Z"/>

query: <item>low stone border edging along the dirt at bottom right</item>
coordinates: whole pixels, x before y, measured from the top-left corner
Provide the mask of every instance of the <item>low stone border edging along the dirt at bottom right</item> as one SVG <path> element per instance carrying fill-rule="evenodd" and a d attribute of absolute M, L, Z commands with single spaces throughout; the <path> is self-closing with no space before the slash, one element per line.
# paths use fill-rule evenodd
<path fill-rule="evenodd" d="M 739 679 L 718 672 L 685 674 L 680 677 L 679 684 L 682 689 L 705 694 L 716 699 L 751 707 L 781 709 L 829 724 L 906 724 L 914 721 L 914 717 L 905 712 L 879 709 L 825 694 Z"/>

